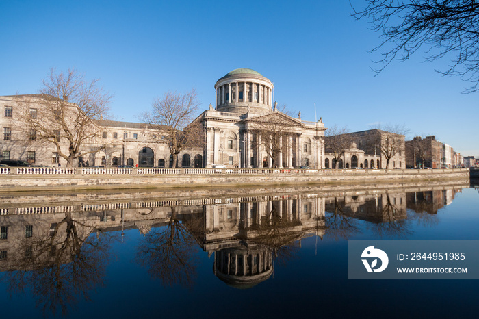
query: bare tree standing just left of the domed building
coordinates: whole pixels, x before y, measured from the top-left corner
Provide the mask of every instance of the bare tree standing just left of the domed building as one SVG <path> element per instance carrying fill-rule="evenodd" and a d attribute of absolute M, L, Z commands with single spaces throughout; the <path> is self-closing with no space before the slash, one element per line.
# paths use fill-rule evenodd
<path fill-rule="evenodd" d="M 160 129 L 164 133 L 163 140 L 173 157 L 173 167 L 177 166 L 181 151 L 202 146 L 205 141 L 201 123 L 192 122 L 199 106 L 198 94 L 194 89 L 185 94 L 168 91 L 153 101 L 150 111 L 140 116 L 149 129 Z"/>

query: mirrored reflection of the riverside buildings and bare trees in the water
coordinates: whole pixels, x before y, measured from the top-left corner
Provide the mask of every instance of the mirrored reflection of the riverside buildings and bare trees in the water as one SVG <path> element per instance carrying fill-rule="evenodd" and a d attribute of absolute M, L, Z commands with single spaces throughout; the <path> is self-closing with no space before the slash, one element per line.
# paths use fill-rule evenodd
<path fill-rule="evenodd" d="M 275 263 L 294 257 L 303 238 L 348 239 L 361 232 L 359 223 L 379 236 L 406 238 L 409 222 L 434 224 L 418 216 L 437 214 L 461 187 L 50 206 L 25 196 L 0 207 L 0 277 L 11 293 L 29 288 L 44 311 L 65 312 L 103 285 L 109 234 L 138 229 L 144 236 L 137 261 L 162 285 L 191 286 L 201 248 L 213 255 L 216 277 L 250 288 L 270 278 Z"/>

